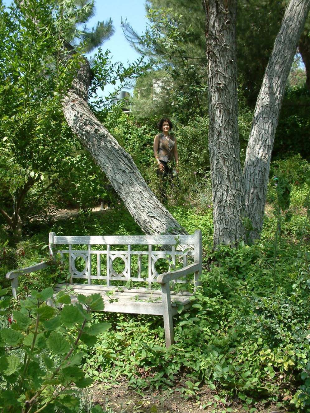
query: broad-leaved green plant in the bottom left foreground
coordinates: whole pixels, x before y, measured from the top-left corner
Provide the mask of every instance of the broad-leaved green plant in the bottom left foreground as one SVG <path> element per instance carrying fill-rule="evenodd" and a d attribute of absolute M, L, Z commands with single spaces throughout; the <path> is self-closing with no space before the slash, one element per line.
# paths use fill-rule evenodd
<path fill-rule="evenodd" d="M 1 290 L 1 313 L 8 311 L 10 298 Z M 93 382 L 79 367 L 84 354 L 77 351 L 79 341 L 92 346 L 107 323 L 91 324 L 91 311 L 103 310 L 100 294 L 77 297 L 71 304 L 69 294 L 59 293 L 55 304 L 46 305 L 53 289 L 31 291 L 19 309 L 0 330 L 0 407 L 4 412 L 76 411 L 76 388 Z M 72 387 L 74 386 L 75 389 Z M 97 410 L 98 411 L 98 410 Z"/>

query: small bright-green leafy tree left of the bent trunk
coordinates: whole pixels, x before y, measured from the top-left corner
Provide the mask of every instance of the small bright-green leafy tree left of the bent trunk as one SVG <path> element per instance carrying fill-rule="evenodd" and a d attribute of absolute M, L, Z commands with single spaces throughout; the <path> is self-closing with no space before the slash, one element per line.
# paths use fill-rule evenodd
<path fill-rule="evenodd" d="M 26 220 L 46 210 L 52 195 L 55 204 L 58 183 L 66 180 L 74 189 L 85 170 L 94 173 L 93 161 L 74 140 L 62 114 L 62 94 L 77 60 L 62 63 L 59 39 L 80 37 L 89 50 L 96 45 L 91 40 L 102 41 L 112 28 L 108 22 L 98 26 L 99 33 L 80 33 L 76 24 L 87 21 L 93 2 L 75 3 L 69 7 L 68 2 L 27 0 L 9 12 L 1 7 L 0 214 L 17 239 Z M 76 182 L 70 183 L 78 170 Z M 99 199 L 100 178 L 102 174 L 83 185 L 84 199 L 93 199 L 94 191 Z"/>

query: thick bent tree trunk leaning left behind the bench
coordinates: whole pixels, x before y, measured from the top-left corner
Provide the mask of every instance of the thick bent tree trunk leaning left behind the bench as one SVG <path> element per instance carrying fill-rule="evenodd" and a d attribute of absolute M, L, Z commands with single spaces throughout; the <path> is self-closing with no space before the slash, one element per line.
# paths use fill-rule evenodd
<path fill-rule="evenodd" d="M 72 88 L 63 99 L 63 112 L 69 127 L 110 180 L 144 233 L 186 234 L 148 188 L 131 156 L 91 112 L 87 104 L 89 79 L 88 61 L 81 59 Z"/>

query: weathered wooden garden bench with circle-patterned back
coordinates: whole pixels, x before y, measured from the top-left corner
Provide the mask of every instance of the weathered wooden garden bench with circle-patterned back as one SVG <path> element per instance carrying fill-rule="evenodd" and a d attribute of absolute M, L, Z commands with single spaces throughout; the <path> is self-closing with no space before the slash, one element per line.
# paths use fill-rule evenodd
<path fill-rule="evenodd" d="M 76 294 L 100 293 L 104 311 L 163 316 L 166 347 L 174 342 L 172 316 L 191 305 L 193 291 L 199 284 L 200 230 L 193 235 L 179 236 L 57 236 L 50 233 L 49 248 L 52 261 L 60 262 L 68 275 L 65 283 L 54 286 L 55 294 L 69 289 L 74 299 Z M 67 268 L 65 256 L 68 256 Z M 160 260 L 164 261 L 161 265 Z M 13 296 L 17 297 L 19 275 L 50 264 L 51 260 L 7 273 Z M 189 285 L 189 275 L 193 275 L 193 288 L 184 291 Z"/>

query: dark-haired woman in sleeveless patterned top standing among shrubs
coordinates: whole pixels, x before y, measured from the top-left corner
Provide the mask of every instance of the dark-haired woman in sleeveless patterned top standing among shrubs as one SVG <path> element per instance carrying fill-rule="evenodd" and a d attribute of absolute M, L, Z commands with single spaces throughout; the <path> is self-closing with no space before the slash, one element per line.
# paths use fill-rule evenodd
<path fill-rule="evenodd" d="M 174 158 L 176 161 L 176 171 L 178 171 L 179 156 L 176 147 L 176 138 L 169 131 L 172 129 L 170 119 L 163 118 L 157 123 L 160 133 L 154 139 L 154 156 L 158 164 L 157 175 L 162 178 L 170 178 L 173 176 L 173 169 L 169 162 Z"/>

